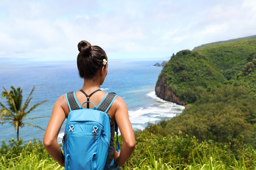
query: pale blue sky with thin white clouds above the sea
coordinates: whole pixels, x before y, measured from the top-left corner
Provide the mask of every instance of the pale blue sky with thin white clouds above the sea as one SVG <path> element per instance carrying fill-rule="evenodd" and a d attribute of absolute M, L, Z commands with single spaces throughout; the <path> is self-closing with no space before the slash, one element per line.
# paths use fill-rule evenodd
<path fill-rule="evenodd" d="M 109 59 L 170 57 L 256 34 L 256 1 L 2 1 L 0 62 L 76 60 L 86 40 Z"/>

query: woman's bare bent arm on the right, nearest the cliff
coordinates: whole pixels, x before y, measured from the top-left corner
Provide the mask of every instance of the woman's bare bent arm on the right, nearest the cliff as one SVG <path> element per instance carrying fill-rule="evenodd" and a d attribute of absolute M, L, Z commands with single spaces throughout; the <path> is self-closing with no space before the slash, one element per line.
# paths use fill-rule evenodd
<path fill-rule="evenodd" d="M 115 113 L 115 120 L 120 129 L 123 145 L 120 152 L 115 150 L 114 158 L 115 162 L 119 166 L 123 166 L 125 161 L 131 156 L 135 148 L 135 137 L 132 129 L 132 125 L 128 116 L 127 106 L 121 97 L 115 99 L 117 103 L 117 110 Z"/>

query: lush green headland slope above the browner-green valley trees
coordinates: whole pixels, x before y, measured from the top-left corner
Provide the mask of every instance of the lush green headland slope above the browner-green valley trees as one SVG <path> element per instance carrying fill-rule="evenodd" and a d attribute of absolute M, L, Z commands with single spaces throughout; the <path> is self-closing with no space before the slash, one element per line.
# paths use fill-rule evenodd
<path fill-rule="evenodd" d="M 202 50 L 182 50 L 158 76 L 186 103 L 196 101 L 196 87 L 207 91 L 223 84 L 244 85 L 255 92 L 256 39 L 212 45 Z"/>

